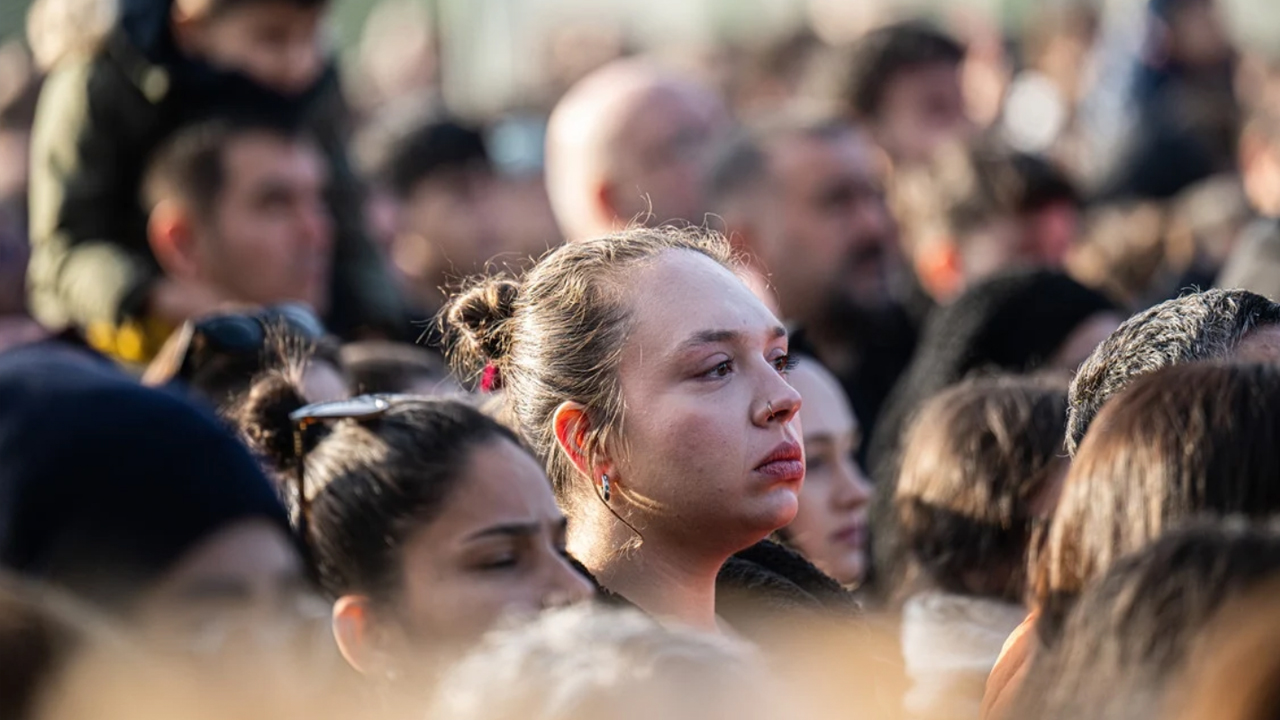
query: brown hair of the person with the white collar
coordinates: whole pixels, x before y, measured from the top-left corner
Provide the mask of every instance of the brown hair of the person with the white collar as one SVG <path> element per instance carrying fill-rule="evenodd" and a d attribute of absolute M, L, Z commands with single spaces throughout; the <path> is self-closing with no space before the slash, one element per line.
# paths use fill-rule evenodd
<path fill-rule="evenodd" d="M 1021 601 L 1065 413 L 1066 382 L 1051 378 L 968 382 L 924 405 L 895 497 L 900 541 L 924 587 Z"/>

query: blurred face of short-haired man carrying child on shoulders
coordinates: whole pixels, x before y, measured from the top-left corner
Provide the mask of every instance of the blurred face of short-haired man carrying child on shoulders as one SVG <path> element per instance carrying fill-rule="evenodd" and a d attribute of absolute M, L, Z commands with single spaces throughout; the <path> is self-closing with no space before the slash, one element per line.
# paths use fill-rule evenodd
<path fill-rule="evenodd" d="M 223 190 L 197 240 L 200 279 L 255 305 L 329 304 L 333 234 L 320 152 L 246 135 L 223 150 Z"/>

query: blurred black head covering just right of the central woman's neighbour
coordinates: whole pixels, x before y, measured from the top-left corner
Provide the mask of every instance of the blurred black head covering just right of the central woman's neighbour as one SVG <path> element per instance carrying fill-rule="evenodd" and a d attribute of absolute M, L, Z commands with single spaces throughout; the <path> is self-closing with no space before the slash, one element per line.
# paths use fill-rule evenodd
<path fill-rule="evenodd" d="M 868 448 L 867 468 L 879 488 L 872 523 L 881 596 L 895 594 L 902 580 L 893 483 L 902 437 L 920 406 L 975 375 L 1071 372 L 1121 320 L 1110 300 L 1055 270 L 989 279 L 929 315 Z"/>

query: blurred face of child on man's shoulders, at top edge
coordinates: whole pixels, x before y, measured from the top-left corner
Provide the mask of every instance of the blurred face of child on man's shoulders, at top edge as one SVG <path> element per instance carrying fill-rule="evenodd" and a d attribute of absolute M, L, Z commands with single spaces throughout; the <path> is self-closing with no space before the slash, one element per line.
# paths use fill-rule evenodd
<path fill-rule="evenodd" d="M 328 0 L 174 0 L 170 26 L 187 55 L 297 95 L 324 70 L 328 9 Z"/>

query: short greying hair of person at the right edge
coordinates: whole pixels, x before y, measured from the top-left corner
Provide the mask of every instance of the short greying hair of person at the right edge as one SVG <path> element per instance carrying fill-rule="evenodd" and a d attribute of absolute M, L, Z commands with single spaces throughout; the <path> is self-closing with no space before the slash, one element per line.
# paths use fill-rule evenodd
<path fill-rule="evenodd" d="M 1280 323 L 1280 305 L 1243 290 L 1208 290 L 1139 313 L 1102 342 L 1071 382 L 1066 448 L 1075 456 L 1106 401 L 1170 365 L 1229 359 L 1256 328 Z"/>

